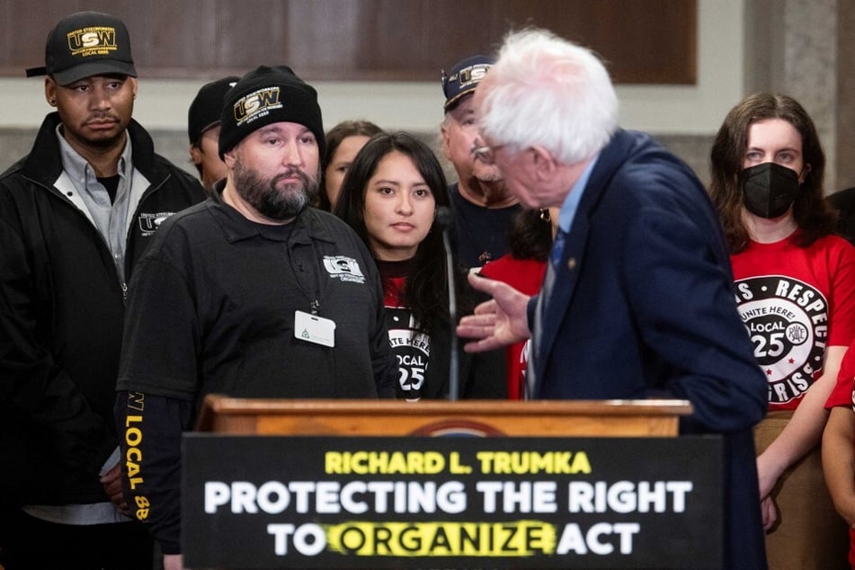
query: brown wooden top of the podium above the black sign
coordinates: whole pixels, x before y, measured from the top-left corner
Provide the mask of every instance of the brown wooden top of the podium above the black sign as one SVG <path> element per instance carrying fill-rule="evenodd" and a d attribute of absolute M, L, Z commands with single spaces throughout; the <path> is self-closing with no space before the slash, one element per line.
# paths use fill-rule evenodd
<path fill-rule="evenodd" d="M 473 435 L 669 437 L 677 435 L 680 416 L 690 413 L 685 400 L 409 403 L 210 395 L 197 429 L 233 435 L 390 436 L 441 434 L 452 426 L 465 430 L 469 425 Z"/>

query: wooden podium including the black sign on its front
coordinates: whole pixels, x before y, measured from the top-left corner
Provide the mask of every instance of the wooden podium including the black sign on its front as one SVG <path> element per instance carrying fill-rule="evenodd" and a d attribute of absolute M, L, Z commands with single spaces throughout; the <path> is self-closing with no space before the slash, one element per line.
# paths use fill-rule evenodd
<path fill-rule="evenodd" d="M 683 400 L 208 396 L 187 567 L 721 567 L 717 436 Z"/>

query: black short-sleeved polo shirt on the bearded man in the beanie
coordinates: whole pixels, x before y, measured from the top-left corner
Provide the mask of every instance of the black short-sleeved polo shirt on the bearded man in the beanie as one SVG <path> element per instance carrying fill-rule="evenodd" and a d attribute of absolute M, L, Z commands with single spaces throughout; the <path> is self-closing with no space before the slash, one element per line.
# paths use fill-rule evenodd
<path fill-rule="evenodd" d="M 297 310 L 334 321 L 334 347 L 296 338 Z M 306 209 L 256 224 L 215 191 L 167 220 L 138 264 L 118 389 L 197 409 L 209 393 L 376 397 L 394 390 L 383 310 L 375 263 L 340 219 Z"/>

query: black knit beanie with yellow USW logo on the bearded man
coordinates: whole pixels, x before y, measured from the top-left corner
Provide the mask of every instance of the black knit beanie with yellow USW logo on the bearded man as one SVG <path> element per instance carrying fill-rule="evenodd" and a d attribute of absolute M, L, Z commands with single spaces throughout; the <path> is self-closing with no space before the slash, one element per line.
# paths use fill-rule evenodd
<path fill-rule="evenodd" d="M 255 130 L 274 122 L 296 122 L 311 130 L 324 156 L 324 121 L 317 92 L 286 66 L 260 66 L 228 90 L 219 123 L 219 157 Z"/>

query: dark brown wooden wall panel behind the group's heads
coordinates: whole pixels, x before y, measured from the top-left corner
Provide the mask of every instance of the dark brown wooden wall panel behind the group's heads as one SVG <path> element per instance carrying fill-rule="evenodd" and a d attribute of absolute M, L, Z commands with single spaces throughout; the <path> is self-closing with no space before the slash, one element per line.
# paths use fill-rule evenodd
<path fill-rule="evenodd" d="M 287 64 L 308 80 L 434 81 L 536 25 L 595 49 L 616 83 L 691 85 L 697 0 L 3 0 L 0 76 L 43 65 L 49 29 L 100 10 L 128 26 L 140 76 Z"/>

